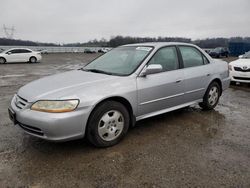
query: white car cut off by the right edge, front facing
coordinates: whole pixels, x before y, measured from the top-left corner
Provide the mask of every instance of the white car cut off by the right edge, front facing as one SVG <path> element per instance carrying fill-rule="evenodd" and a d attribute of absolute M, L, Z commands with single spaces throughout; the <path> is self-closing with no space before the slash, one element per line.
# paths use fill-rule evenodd
<path fill-rule="evenodd" d="M 250 83 L 250 51 L 229 63 L 231 82 Z"/>

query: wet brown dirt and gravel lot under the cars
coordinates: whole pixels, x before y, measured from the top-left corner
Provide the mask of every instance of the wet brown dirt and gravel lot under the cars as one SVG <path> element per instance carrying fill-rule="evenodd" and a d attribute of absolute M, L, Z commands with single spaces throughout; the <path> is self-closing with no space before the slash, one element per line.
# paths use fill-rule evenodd
<path fill-rule="evenodd" d="M 248 86 L 229 88 L 210 112 L 193 107 L 140 121 L 108 149 L 50 143 L 12 125 L 7 107 L 18 88 L 95 56 L 0 65 L 0 187 L 250 187 Z"/>

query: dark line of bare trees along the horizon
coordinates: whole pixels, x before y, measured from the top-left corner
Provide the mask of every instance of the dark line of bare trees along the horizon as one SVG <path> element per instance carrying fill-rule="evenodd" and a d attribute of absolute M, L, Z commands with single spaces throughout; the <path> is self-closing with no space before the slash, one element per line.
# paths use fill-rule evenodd
<path fill-rule="evenodd" d="M 250 37 L 231 37 L 231 38 L 207 38 L 201 40 L 192 40 L 183 37 L 130 37 L 115 36 L 110 40 L 104 38 L 90 40 L 86 43 L 41 43 L 34 41 L 0 38 L 0 45 L 6 46 L 66 46 L 66 47 L 117 47 L 124 44 L 143 43 L 143 42 L 186 42 L 198 45 L 201 48 L 228 47 L 229 42 L 250 43 Z"/>

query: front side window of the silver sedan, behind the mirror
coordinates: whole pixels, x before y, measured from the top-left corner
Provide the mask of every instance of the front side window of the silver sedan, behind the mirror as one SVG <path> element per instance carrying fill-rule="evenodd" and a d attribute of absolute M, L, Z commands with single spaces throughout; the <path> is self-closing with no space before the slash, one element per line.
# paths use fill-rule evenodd
<path fill-rule="evenodd" d="M 163 71 L 178 69 L 179 63 L 176 48 L 165 47 L 158 50 L 148 64 L 160 64 Z"/>

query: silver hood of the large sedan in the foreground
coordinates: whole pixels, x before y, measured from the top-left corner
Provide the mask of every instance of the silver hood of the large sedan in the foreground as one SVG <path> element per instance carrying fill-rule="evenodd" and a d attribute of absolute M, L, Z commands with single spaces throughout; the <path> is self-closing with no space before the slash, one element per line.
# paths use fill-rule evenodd
<path fill-rule="evenodd" d="M 111 76 L 82 70 L 47 76 L 28 83 L 19 89 L 18 95 L 29 102 L 42 99 L 77 98 L 77 90 L 97 85 L 97 83 L 112 82 L 119 76 Z"/>

